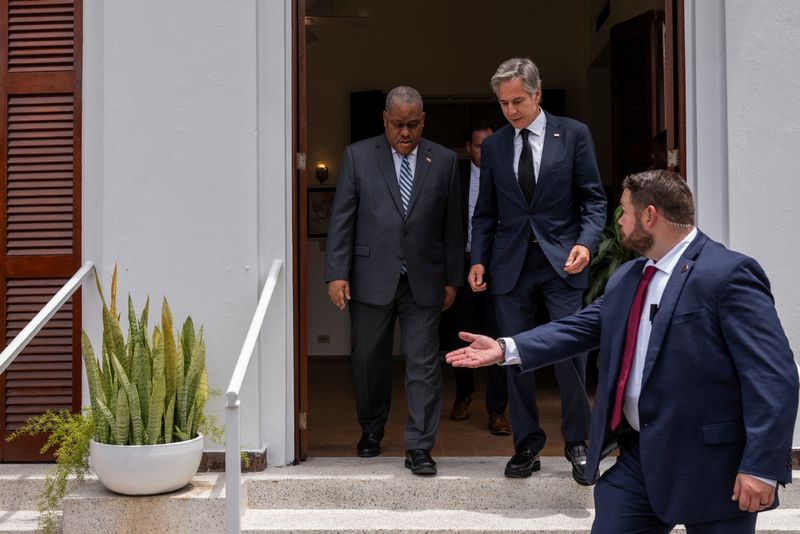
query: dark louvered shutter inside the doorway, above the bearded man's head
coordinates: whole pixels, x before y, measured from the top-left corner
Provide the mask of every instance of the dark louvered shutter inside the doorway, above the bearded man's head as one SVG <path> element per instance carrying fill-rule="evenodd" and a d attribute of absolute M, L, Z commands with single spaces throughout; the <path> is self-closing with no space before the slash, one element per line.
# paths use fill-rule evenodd
<path fill-rule="evenodd" d="M 653 137 L 664 128 L 663 13 L 648 11 L 611 28 L 611 125 L 614 202 L 628 174 L 651 163 Z"/>

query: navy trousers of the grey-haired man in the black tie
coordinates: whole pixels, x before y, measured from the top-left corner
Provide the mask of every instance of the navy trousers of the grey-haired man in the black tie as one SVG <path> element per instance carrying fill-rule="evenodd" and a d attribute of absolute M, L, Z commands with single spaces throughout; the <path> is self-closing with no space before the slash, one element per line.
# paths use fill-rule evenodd
<path fill-rule="evenodd" d="M 535 326 L 536 304 L 544 299 L 551 320 L 581 308 L 583 291 L 567 284 L 551 267 L 538 245 L 530 245 L 514 289 L 495 296 L 500 335 L 511 336 Z M 588 437 L 590 408 L 586 397 L 586 355 L 553 365 L 561 394 L 561 433 L 565 441 Z M 534 373 L 508 367 L 508 399 L 515 450 L 544 448 L 546 435 L 539 424 Z"/>

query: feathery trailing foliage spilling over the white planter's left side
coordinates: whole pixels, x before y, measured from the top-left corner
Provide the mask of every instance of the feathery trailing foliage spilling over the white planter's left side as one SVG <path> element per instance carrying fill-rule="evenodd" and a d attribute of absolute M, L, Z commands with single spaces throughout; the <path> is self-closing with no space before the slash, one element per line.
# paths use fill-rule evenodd
<path fill-rule="evenodd" d="M 45 534 L 50 534 L 56 527 L 56 511 L 67 492 L 69 477 L 74 476 L 80 483 L 89 472 L 89 440 L 94 430 L 92 412 L 88 408 L 83 414 L 61 410 L 29 418 L 7 438 L 11 441 L 23 435 L 49 433 L 40 452 L 45 454 L 54 449 L 56 463 L 48 471 L 36 502 L 41 513 L 39 526 Z"/>

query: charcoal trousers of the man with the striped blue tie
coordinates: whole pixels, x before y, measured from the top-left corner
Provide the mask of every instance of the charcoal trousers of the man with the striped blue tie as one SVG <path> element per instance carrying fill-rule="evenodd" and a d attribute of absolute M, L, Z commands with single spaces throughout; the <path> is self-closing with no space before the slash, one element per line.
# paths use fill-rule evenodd
<path fill-rule="evenodd" d="M 414 301 L 405 276 L 400 277 L 395 296 L 386 306 L 350 301 L 353 388 L 364 432 L 382 432 L 389 418 L 392 344 L 399 318 L 408 403 L 403 445 L 406 449 L 433 448 L 442 410 L 440 312 L 440 306 L 419 306 Z"/>

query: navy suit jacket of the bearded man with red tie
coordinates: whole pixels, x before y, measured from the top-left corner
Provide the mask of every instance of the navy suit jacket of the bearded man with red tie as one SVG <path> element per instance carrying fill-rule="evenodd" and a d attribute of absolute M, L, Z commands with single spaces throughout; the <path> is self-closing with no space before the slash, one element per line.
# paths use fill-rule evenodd
<path fill-rule="evenodd" d="M 513 338 L 525 371 L 600 347 L 590 482 L 613 439 L 625 318 L 645 261 L 624 264 L 581 312 Z M 667 523 L 741 516 L 731 501 L 738 472 L 791 482 L 797 400 L 797 368 L 767 276 L 698 232 L 661 297 L 642 377 L 642 475 L 656 515 Z"/>

